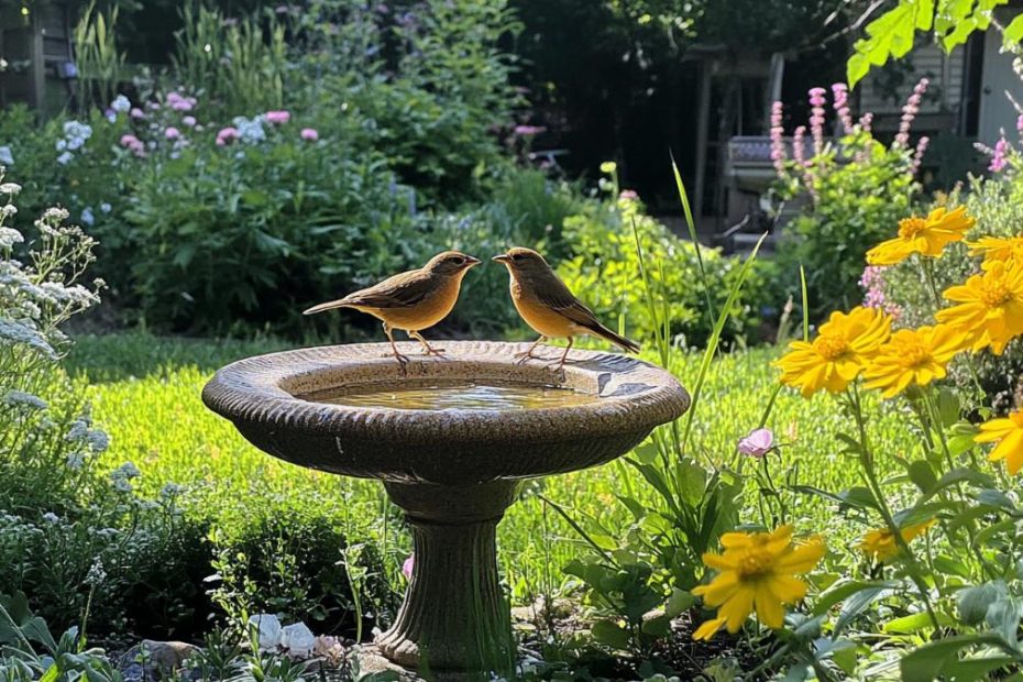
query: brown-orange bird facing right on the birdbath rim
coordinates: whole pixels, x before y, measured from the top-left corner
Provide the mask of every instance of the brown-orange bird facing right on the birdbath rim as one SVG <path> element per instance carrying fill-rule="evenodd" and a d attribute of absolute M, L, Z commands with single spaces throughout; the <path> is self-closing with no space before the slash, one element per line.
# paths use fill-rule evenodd
<path fill-rule="evenodd" d="M 425 355 L 440 355 L 443 349 L 432 348 L 419 332 L 448 317 L 459 298 L 462 278 L 479 258 L 460 251 L 444 251 L 417 270 L 399 273 L 380 284 L 353 292 L 344 298 L 319 304 L 302 311 L 315 315 L 334 308 L 354 308 L 372 315 L 384 324 L 395 359 L 405 371 L 408 358 L 398 352 L 393 330 L 400 329 L 422 344 Z"/>

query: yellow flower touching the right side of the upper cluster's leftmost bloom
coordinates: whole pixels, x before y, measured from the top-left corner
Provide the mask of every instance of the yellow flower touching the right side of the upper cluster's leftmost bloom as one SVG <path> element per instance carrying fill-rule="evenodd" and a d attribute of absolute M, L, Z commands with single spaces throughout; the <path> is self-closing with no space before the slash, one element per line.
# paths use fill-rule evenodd
<path fill-rule="evenodd" d="M 890 398 L 910 384 L 926 386 L 944 378 L 945 365 L 965 348 L 966 340 L 966 332 L 946 324 L 900 329 L 867 366 L 867 388 L 881 388 Z"/>

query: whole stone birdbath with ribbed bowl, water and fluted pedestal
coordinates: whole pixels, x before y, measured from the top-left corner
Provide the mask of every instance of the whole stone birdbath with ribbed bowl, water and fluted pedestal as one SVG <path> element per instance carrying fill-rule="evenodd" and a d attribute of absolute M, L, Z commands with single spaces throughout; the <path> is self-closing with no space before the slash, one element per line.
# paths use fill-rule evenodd
<path fill-rule="evenodd" d="M 689 395 L 668 372 L 612 353 L 573 351 L 561 375 L 518 363 L 526 344 L 449 341 L 443 358 L 399 345 L 414 359 L 404 372 L 384 343 L 249 358 L 217 372 L 202 399 L 264 452 L 380 480 L 405 512 L 416 560 L 375 642 L 387 661 L 506 670 L 496 529 L 520 483 L 625 454 L 681 416 Z"/>

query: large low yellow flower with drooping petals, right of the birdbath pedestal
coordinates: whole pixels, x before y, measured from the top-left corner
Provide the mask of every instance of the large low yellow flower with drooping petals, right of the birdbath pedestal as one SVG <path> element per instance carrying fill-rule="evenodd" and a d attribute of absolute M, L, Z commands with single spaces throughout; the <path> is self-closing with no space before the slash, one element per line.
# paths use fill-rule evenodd
<path fill-rule="evenodd" d="M 795 578 L 813 569 L 824 557 L 824 542 L 813 538 L 805 544 L 792 542 L 792 526 L 774 532 L 726 532 L 725 551 L 706 553 L 703 562 L 721 571 L 710 584 L 693 594 L 704 604 L 717 607 L 717 618 L 701 625 L 693 639 L 710 639 L 727 625 L 738 632 L 756 609 L 760 623 L 780 628 L 785 617 L 784 604 L 795 604 L 806 595 L 806 583 Z"/>

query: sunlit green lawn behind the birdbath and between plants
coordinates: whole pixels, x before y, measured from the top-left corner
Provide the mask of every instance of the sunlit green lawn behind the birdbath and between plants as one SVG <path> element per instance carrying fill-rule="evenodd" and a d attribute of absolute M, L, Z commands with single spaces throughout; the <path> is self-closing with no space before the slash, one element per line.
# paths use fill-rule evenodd
<path fill-rule="evenodd" d="M 207 410 L 200 391 L 212 372 L 232 360 L 280 350 L 261 341 L 157 339 L 118 334 L 77 339 L 68 359 L 70 371 L 92 383 L 94 417 L 111 437 L 103 455 L 111 469 L 124 461 L 143 472 L 142 488 L 155 495 L 166 483 L 188 488 L 187 508 L 228 531 L 256 507 L 283 514 L 326 515 L 344 522 L 356 539 L 383 551 L 388 578 L 400 586 L 402 562 L 409 538 L 397 510 L 380 484 L 308 471 L 275 460 L 250 446 L 226 420 Z M 735 444 L 759 425 L 777 382 L 774 349 L 756 349 L 722 356 L 711 366 L 703 402 L 694 416 L 691 448 L 705 461 L 749 466 Z M 671 370 L 691 385 L 700 365 L 696 354 L 679 354 Z M 908 420 L 894 408 L 873 407 L 875 438 L 893 454 L 914 447 Z M 780 443 L 781 461 L 771 464 L 776 482 L 784 481 L 839 491 L 859 481 L 851 461 L 838 453 L 836 432 L 847 428 L 833 400 L 804 400 L 791 392 L 778 397 L 768 422 Z M 615 497 L 631 490 L 642 497 L 646 484 L 625 465 L 608 464 L 530 483 L 525 498 L 513 506 L 498 530 L 504 576 L 518 602 L 564 587 L 560 568 L 578 556 L 580 539 L 553 510 L 530 493 L 575 515 L 598 517 L 613 532 L 625 532 L 631 517 Z M 755 496 L 749 496 L 752 499 Z M 799 497 L 792 521 L 801 531 L 825 532 L 833 548 L 848 546 L 862 532 L 835 524 L 834 509 L 817 497 Z M 750 509 L 752 514 L 752 509 Z M 754 516 L 748 520 L 755 521 Z M 551 584 L 552 583 L 552 584 Z"/>

